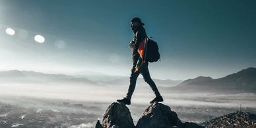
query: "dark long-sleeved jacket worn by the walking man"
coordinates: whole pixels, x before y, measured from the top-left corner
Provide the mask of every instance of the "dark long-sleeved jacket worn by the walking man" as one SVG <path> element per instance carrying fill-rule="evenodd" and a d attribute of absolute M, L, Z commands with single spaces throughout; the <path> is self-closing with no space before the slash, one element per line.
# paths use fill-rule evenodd
<path fill-rule="evenodd" d="M 133 42 L 130 44 L 133 49 L 133 68 L 136 66 L 137 61 L 139 59 L 138 48 L 141 42 L 143 42 L 144 38 L 146 38 L 146 31 L 143 26 L 139 26 L 135 30 L 133 30 Z"/>

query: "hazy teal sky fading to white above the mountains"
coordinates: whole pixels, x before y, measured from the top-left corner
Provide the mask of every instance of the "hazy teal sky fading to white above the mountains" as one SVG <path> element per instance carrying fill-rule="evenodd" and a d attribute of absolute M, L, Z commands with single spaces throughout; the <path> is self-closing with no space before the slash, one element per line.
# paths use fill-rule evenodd
<path fill-rule="evenodd" d="M 0 0 L 0 70 L 128 76 L 135 16 L 158 42 L 162 61 L 149 65 L 156 79 L 219 78 L 256 67 L 254 0 Z M 46 41 L 35 42 L 36 34 Z"/>

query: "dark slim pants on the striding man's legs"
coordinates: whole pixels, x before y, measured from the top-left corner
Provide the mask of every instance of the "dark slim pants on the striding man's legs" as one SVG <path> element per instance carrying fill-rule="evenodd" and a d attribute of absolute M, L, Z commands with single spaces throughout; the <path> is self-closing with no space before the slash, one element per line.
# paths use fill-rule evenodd
<path fill-rule="evenodd" d="M 143 67 L 139 69 L 139 71 L 135 72 L 135 66 L 133 66 L 133 69 L 131 69 L 131 77 L 130 77 L 130 86 L 127 92 L 126 98 L 131 99 L 131 96 L 133 95 L 133 92 L 135 90 L 136 81 L 139 77 L 139 74 L 143 75 L 143 79 L 145 82 L 147 82 L 150 86 L 150 88 L 154 91 L 154 94 L 156 96 L 160 96 L 160 92 L 156 88 L 156 84 L 151 79 L 149 71 L 148 71 L 148 62 L 144 63 Z"/>

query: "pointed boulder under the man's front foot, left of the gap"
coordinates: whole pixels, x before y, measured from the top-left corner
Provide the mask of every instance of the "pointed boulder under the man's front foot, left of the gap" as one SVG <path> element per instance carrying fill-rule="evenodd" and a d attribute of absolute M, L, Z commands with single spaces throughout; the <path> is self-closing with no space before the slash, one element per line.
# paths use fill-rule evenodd
<path fill-rule="evenodd" d="M 117 102 L 112 103 L 102 119 L 102 127 L 104 128 L 134 128 L 133 118 L 125 104 Z"/>

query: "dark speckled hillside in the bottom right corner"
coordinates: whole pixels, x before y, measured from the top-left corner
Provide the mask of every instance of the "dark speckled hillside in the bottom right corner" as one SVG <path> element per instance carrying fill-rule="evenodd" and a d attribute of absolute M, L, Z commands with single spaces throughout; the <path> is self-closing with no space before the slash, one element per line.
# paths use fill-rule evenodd
<path fill-rule="evenodd" d="M 248 112 L 235 112 L 216 117 L 203 123 L 205 127 L 256 127 L 256 115 Z"/>

